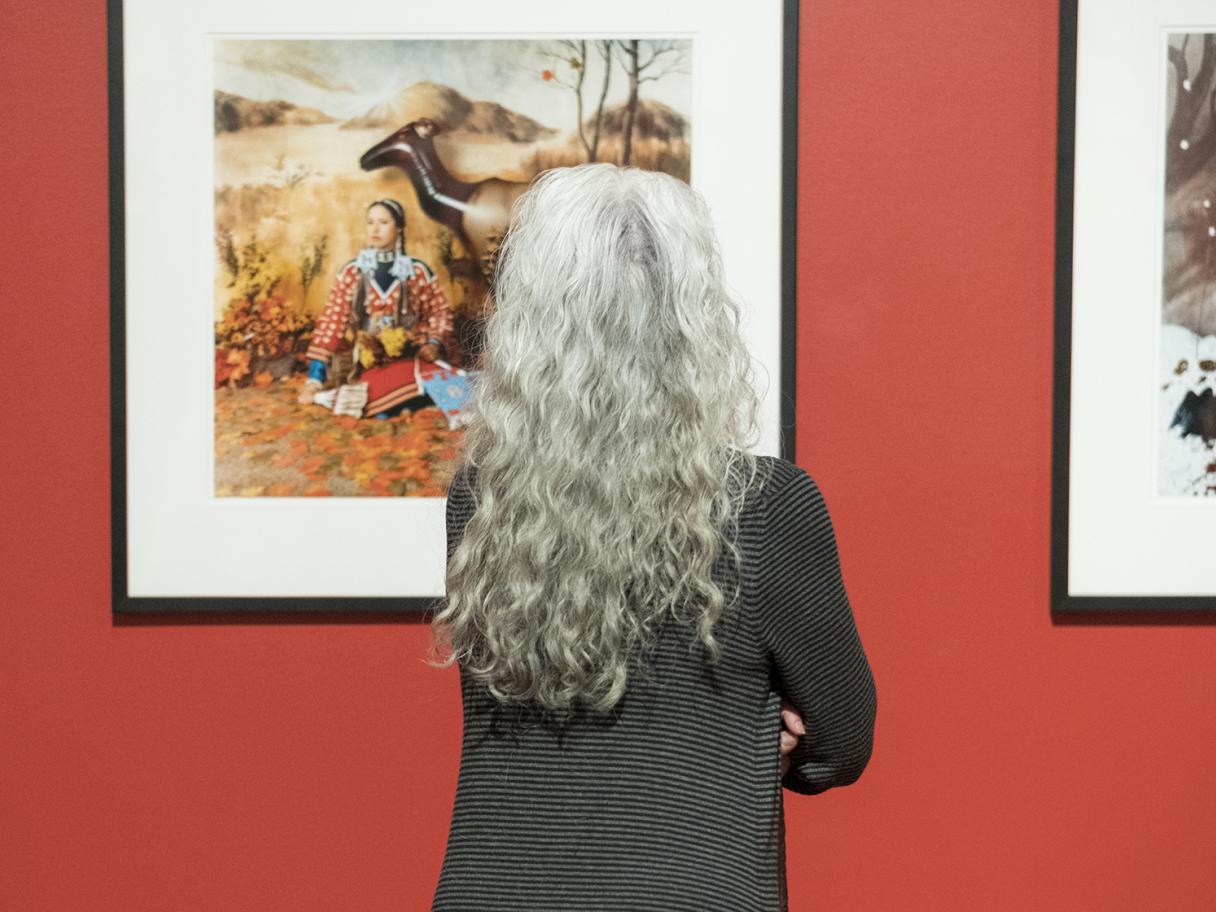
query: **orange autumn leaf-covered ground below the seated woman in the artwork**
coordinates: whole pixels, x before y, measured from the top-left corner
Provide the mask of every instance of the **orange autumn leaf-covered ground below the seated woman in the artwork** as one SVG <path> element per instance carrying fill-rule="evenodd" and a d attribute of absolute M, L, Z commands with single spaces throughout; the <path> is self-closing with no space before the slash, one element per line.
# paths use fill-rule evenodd
<path fill-rule="evenodd" d="M 426 406 L 387 421 L 295 401 L 303 377 L 215 390 L 220 497 L 443 497 L 462 430 Z"/>

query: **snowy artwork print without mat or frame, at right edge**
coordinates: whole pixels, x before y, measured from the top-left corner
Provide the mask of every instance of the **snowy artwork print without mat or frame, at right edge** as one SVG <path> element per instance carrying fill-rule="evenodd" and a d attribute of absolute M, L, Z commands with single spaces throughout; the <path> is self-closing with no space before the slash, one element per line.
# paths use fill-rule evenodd
<path fill-rule="evenodd" d="M 1165 40 L 1158 494 L 1216 497 L 1216 33 Z"/>

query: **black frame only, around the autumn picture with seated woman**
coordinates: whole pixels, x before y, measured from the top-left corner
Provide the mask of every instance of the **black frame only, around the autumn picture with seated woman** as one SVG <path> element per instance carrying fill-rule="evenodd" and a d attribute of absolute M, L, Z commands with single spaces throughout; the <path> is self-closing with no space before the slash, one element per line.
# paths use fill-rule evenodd
<path fill-rule="evenodd" d="M 794 460 L 796 415 L 796 199 L 799 1 L 782 2 L 781 136 L 781 456 Z M 128 410 L 125 320 L 125 141 L 123 0 L 107 0 L 109 170 L 109 399 L 111 399 L 111 608 L 114 615 L 280 615 L 350 620 L 358 615 L 422 615 L 430 597 L 196 597 L 133 596 L 128 579 Z"/>

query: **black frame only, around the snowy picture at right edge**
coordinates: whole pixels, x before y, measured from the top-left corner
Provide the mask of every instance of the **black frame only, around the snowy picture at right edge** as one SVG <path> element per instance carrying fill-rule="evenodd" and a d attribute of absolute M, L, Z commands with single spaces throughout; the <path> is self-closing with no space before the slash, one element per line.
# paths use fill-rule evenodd
<path fill-rule="evenodd" d="M 1076 596 L 1069 591 L 1069 480 L 1073 393 L 1073 291 L 1079 1 L 1059 7 L 1054 353 L 1052 399 L 1051 612 L 1060 619 L 1161 620 L 1216 614 L 1216 596 Z"/>

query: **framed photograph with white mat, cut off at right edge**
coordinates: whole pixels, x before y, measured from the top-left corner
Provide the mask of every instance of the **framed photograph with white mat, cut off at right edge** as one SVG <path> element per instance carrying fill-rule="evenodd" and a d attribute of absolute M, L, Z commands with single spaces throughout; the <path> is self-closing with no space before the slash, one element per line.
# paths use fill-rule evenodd
<path fill-rule="evenodd" d="M 1063 2 L 1052 608 L 1216 612 L 1216 6 Z"/>

